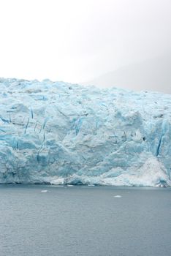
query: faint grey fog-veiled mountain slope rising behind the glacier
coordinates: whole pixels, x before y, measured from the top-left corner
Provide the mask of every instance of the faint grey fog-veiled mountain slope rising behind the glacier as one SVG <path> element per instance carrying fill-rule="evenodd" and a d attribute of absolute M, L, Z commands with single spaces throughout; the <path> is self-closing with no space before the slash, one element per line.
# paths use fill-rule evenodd
<path fill-rule="evenodd" d="M 129 64 L 83 84 L 171 94 L 171 56 L 167 54 Z"/>

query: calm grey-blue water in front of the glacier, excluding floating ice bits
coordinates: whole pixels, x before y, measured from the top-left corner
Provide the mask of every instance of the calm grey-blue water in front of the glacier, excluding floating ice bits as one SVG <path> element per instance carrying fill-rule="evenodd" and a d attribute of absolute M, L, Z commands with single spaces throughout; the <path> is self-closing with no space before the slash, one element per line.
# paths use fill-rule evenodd
<path fill-rule="evenodd" d="M 0 255 L 171 255 L 170 214 L 170 188 L 1 185 Z"/>

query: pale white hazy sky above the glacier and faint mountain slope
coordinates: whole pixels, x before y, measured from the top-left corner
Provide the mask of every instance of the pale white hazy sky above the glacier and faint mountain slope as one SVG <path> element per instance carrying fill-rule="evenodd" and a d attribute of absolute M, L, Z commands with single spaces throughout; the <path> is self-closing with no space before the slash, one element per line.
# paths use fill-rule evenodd
<path fill-rule="evenodd" d="M 84 82 L 169 53 L 170 0 L 0 0 L 0 77 Z"/>

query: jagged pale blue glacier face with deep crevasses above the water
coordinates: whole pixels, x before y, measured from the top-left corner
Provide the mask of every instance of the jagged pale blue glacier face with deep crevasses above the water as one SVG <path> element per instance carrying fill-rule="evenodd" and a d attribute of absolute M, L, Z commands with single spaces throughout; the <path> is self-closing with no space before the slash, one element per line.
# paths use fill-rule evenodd
<path fill-rule="evenodd" d="M 170 185 L 171 95 L 0 80 L 0 183 Z"/>

